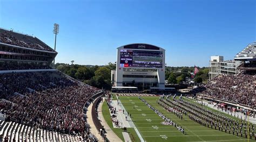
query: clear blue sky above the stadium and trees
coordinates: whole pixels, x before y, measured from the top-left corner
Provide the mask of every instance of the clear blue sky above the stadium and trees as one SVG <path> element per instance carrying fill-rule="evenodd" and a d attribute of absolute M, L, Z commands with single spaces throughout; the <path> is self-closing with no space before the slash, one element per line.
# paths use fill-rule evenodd
<path fill-rule="evenodd" d="M 167 66 L 208 66 L 211 55 L 233 59 L 256 40 L 256 1 L 0 0 L 0 27 L 33 34 L 54 47 L 56 62 L 105 65 L 134 42 L 166 49 Z"/>

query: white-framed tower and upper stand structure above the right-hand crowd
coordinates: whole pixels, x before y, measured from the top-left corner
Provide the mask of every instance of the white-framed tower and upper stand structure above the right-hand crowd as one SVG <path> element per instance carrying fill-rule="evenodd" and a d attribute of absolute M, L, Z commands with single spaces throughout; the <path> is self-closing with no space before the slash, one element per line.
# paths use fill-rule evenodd
<path fill-rule="evenodd" d="M 221 74 L 239 74 L 256 70 L 256 42 L 248 44 L 233 60 L 224 60 L 224 56 L 211 56 L 209 62 L 209 80 Z"/>

